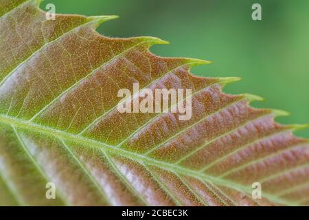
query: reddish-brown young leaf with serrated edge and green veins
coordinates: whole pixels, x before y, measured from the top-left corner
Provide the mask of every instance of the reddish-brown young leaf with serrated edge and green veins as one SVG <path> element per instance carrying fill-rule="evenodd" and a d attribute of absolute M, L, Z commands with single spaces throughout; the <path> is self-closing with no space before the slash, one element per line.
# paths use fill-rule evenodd
<path fill-rule="evenodd" d="M 221 91 L 238 78 L 190 74 L 207 61 L 149 52 L 165 41 L 95 32 L 110 19 L 47 21 L 38 1 L 0 0 L 1 205 L 309 205 L 308 140 L 292 134 L 303 126 Z M 192 118 L 119 113 L 133 83 L 192 89 Z"/>

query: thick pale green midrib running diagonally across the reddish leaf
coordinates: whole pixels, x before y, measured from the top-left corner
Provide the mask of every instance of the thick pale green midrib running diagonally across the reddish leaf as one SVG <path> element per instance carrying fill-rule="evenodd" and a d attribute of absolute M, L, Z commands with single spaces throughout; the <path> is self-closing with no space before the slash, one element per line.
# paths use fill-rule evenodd
<path fill-rule="evenodd" d="M 226 186 L 227 188 L 233 188 L 238 191 L 246 192 L 247 194 L 251 195 L 251 190 L 249 187 L 242 186 L 240 184 L 236 184 L 231 181 L 227 181 L 226 179 L 219 179 L 217 177 L 212 177 L 205 173 L 200 173 L 196 170 L 190 170 L 183 166 L 177 166 L 175 164 L 166 163 L 163 161 L 159 161 L 157 159 L 153 159 L 151 157 L 147 157 L 146 155 L 139 155 L 137 153 L 133 153 L 130 151 L 126 151 L 122 148 L 116 148 L 115 146 L 108 145 L 103 142 L 98 142 L 96 140 L 90 139 L 88 137 L 82 137 L 79 135 L 75 135 L 73 133 L 67 133 L 64 131 L 59 131 L 57 129 L 50 128 L 48 126 L 42 126 L 40 124 L 35 124 L 34 122 L 29 122 L 25 120 L 21 120 L 19 118 L 12 118 L 6 115 L 0 115 L 0 122 L 4 124 L 13 125 L 19 129 L 25 129 L 26 131 L 35 131 L 37 133 L 45 133 L 48 135 L 52 135 L 54 137 L 63 138 L 65 140 L 69 140 L 71 142 L 76 142 L 78 144 L 82 144 L 84 146 L 94 146 L 100 148 L 100 150 L 104 152 L 114 153 L 120 156 L 127 157 L 128 159 L 133 159 L 136 162 L 143 162 L 148 165 L 157 166 L 164 170 L 169 170 L 172 173 L 178 173 L 180 175 L 188 175 L 191 177 L 195 177 L 201 179 L 203 181 L 209 181 L 213 184 L 219 184 L 222 186 Z M 297 206 L 297 203 L 293 203 L 291 201 L 286 201 L 285 199 L 275 197 L 274 195 L 269 195 L 263 193 L 263 196 L 267 199 L 270 199 L 276 203 L 282 203 L 289 206 Z"/>

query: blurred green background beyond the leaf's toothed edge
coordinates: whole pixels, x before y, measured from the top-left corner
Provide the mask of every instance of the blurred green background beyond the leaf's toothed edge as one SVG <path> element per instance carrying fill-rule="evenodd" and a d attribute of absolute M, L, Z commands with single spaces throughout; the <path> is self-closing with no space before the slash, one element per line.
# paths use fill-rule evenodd
<path fill-rule="evenodd" d="M 45 0 L 57 13 L 120 16 L 103 23 L 106 36 L 157 36 L 170 45 L 155 45 L 161 56 L 213 61 L 194 67 L 198 76 L 240 76 L 232 94 L 251 93 L 266 102 L 255 107 L 290 111 L 282 123 L 309 123 L 308 0 Z M 262 21 L 251 19 L 253 3 L 262 5 Z M 309 130 L 298 131 L 309 137 Z"/>

